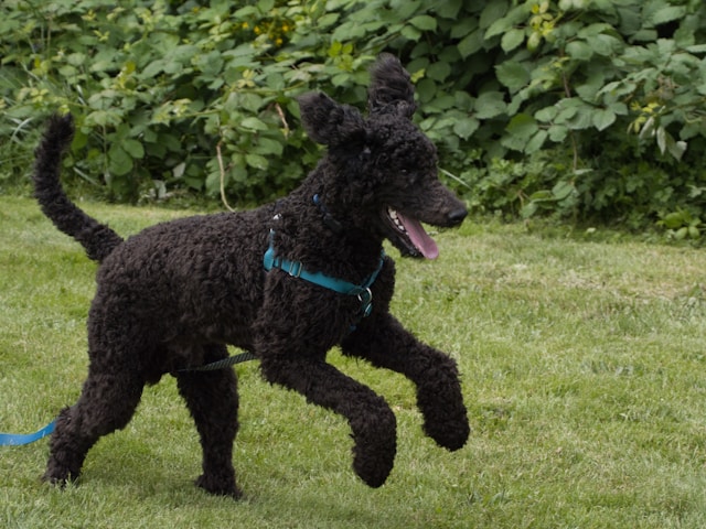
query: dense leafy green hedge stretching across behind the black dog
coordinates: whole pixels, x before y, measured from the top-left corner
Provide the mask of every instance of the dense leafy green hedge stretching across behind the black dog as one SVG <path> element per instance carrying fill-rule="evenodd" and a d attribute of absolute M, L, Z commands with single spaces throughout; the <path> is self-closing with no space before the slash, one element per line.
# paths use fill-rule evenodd
<path fill-rule="evenodd" d="M 61 108 L 79 125 L 76 180 L 115 199 L 222 186 L 235 203 L 270 199 L 319 155 L 296 96 L 361 106 L 389 51 L 443 177 L 475 210 L 659 219 L 696 238 L 705 29 L 700 0 L 6 0 L 1 177 L 24 177 Z"/>

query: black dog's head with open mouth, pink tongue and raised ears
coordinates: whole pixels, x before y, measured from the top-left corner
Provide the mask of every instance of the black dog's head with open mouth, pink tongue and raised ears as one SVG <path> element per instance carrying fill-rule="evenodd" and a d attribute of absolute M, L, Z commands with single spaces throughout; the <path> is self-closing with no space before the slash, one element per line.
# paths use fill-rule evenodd
<path fill-rule="evenodd" d="M 364 217 L 367 229 L 405 256 L 435 259 L 437 245 L 421 227 L 461 224 L 467 210 L 439 182 L 437 152 L 411 122 L 414 85 L 399 61 L 379 56 L 372 71 L 368 116 L 324 94 L 299 98 L 301 119 L 314 141 L 329 147 L 335 172 L 329 195 Z"/>

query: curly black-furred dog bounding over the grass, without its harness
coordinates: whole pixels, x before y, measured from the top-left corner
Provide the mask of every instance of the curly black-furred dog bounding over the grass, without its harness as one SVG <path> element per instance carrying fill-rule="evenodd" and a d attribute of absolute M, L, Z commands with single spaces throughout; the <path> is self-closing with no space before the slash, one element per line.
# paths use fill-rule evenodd
<path fill-rule="evenodd" d="M 88 377 L 78 401 L 57 420 L 45 479 L 76 478 L 94 443 L 128 423 L 143 386 L 169 373 L 201 436 L 197 485 L 238 497 L 231 461 L 238 429 L 235 374 L 180 373 L 226 357 L 225 344 L 255 353 L 268 381 L 345 417 L 353 467 L 372 487 L 393 468 L 395 415 L 383 398 L 325 363 L 334 345 L 407 376 L 417 386 L 425 432 L 449 450 L 464 444 L 469 424 L 456 363 L 389 314 L 389 257 L 372 285 L 373 312 L 362 321 L 355 296 L 263 268 L 272 229 L 280 256 L 360 283 L 377 267 L 385 238 L 404 255 L 422 253 L 391 209 L 441 227 L 462 222 L 463 204 L 437 177 L 434 145 L 409 119 L 413 95 L 399 62 L 381 56 L 367 118 L 323 94 L 300 98 L 307 132 L 329 150 L 289 196 L 245 213 L 159 224 L 125 241 L 64 194 L 58 170 L 73 122 L 69 116 L 50 120 L 36 152 L 36 197 L 56 227 L 101 264 L 88 316 Z"/>

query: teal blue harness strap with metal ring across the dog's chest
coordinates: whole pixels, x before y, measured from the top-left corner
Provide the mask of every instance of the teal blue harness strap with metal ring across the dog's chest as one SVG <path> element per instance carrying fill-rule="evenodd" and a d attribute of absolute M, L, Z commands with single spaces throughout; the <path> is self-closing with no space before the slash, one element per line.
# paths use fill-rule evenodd
<path fill-rule="evenodd" d="M 279 268 L 293 278 L 303 279 L 306 281 L 309 281 L 310 283 L 323 287 L 324 289 L 333 290 L 339 294 L 356 295 L 361 302 L 361 317 L 366 317 L 371 314 L 371 312 L 373 311 L 373 292 L 371 292 L 371 287 L 377 279 L 379 271 L 383 269 L 383 264 L 385 262 L 385 250 L 381 252 L 377 269 L 367 277 L 363 284 L 355 284 L 349 281 L 344 281 L 343 279 L 332 278 L 330 276 L 327 276 L 325 273 L 310 272 L 303 267 L 301 261 L 290 261 L 288 259 L 282 259 L 281 257 L 277 257 L 275 252 L 275 246 L 272 244 L 274 235 L 275 230 L 270 229 L 269 248 L 263 257 L 263 264 L 265 266 L 265 270 L 269 272 L 272 268 Z"/>

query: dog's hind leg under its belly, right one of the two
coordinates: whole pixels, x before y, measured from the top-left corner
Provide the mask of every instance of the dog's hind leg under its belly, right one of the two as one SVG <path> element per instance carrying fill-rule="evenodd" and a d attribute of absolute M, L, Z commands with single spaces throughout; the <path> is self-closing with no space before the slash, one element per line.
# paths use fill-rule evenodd
<path fill-rule="evenodd" d="M 228 356 L 224 345 L 208 345 L 206 363 Z M 233 469 L 233 442 L 238 430 L 237 378 L 231 368 L 176 375 L 179 392 L 196 423 L 203 449 L 203 474 L 196 485 L 211 494 L 239 498 Z"/>

